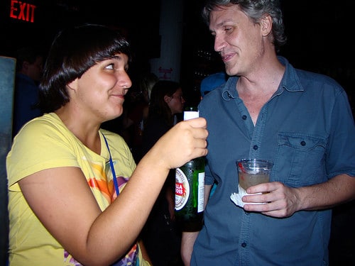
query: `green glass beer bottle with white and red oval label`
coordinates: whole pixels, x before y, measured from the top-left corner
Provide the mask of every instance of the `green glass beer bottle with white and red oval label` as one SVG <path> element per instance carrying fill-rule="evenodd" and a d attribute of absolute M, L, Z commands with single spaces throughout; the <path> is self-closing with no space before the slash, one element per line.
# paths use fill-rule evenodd
<path fill-rule="evenodd" d="M 185 109 L 186 110 L 186 109 Z M 197 108 L 188 107 L 184 120 L 197 118 Z M 175 217 L 182 231 L 200 231 L 204 212 L 204 157 L 198 157 L 176 169 Z"/>

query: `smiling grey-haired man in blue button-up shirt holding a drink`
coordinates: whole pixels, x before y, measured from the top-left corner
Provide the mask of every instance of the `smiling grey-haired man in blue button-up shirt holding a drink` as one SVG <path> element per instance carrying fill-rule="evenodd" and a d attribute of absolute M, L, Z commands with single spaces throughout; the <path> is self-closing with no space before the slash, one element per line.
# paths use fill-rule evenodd
<path fill-rule="evenodd" d="M 186 265 L 328 265 L 332 206 L 355 197 L 355 128 L 344 89 L 295 70 L 277 1 L 211 0 L 203 9 L 229 79 L 202 99 L 209 153 L 202 231 L 182 238 Z M 236 160 L 273 161 L 271 182 L 238 192 Z M 251 204 L 261 203 L 261 204 Z M 193 250 L 192 250 L 193 246 Z"/>

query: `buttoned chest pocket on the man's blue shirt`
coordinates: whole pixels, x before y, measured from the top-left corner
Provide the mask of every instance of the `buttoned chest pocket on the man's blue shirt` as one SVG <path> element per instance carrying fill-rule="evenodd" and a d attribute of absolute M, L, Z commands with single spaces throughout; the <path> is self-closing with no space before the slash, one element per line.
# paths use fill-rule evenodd
<path fill-rule="evenodd" d="M 304 133 L 278 133 L 278 150 L 273 167 L 273 181 L 290 187 L 318 184 L 325 173 L 326 139 Z"/>

